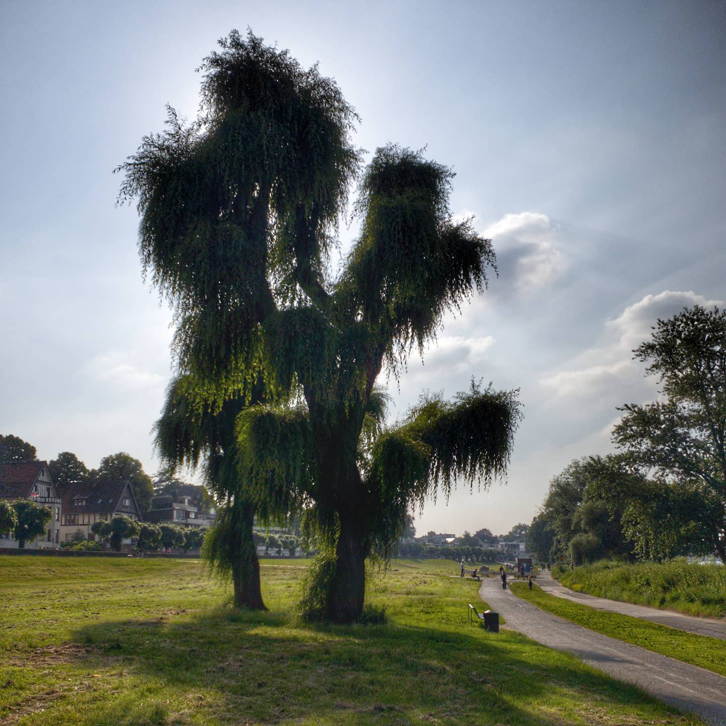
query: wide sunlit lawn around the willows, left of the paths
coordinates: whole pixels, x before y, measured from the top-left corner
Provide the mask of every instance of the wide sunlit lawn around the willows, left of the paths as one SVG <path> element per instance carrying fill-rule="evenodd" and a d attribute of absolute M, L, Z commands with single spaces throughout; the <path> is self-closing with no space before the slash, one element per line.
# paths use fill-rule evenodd
<path fill-rule="evenodd" d="M 696 725 L 575 658 L 468 623 L 440 560 L 372 576 L 388 624 L 301 624 L 305 563 L 262 563 L 267 613 L 193 560 L 0 557 L 0 724 Z"/>

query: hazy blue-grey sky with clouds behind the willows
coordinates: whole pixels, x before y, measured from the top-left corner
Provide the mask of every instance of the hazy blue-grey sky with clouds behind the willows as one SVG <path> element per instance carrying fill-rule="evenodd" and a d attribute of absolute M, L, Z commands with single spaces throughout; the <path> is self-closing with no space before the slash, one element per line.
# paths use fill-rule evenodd
<path fill-rule="evenodd" d="M 656 318 L 726 300 L 726 5 L 4 0 L 0 433 L 41 458 L 158 466 L 171 314 L 111 171 L 166 102 L 195 114 L 195 68 L 247 27 L 336 79 L 356 144 L 456 171 L 452 211 L 492 237 L 499 277 L 391 381 L 393 415 L 472 376 L 521 388 L 507 485 L 417 527 L 531 521 L 571 459 L 611 450 L 615 407 L 655 395 L 629 351 Z"/>

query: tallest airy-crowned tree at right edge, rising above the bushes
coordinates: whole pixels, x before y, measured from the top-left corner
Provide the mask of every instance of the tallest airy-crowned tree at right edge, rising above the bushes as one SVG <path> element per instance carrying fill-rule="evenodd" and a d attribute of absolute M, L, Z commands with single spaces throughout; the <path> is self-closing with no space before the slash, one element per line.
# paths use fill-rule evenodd
<path fill-rule="evenodd" d="M 659 319 L 633 352 L 658 376 L 663 400 L 624 405 L 613 441 L 672 486 L 700 486 L 704 499 L 718 498 L 711 531 L 726 563 L 726 311 L 696 305 Z"/>

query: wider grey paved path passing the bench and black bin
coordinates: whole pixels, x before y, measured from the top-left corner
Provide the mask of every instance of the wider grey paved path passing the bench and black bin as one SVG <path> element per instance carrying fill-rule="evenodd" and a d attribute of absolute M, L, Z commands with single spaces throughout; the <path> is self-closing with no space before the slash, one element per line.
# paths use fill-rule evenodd
<path fill-rule="evenodd" d="M 549 648 L 572 653 L 613 678 L 637 685 L 678 709 L 697 713 L 710 724 L 726 726 L 726 678 L 545 613 L 510 590 L 502 590 L 498 577 L 485 579 L 479 595 L 505 617 L 506 627 Z"/>

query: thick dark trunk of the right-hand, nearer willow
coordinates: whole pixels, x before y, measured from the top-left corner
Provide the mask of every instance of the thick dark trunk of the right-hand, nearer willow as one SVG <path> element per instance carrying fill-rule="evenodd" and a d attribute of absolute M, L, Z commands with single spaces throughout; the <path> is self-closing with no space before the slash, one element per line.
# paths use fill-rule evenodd
<path fill-rule="evenodd" d="M 330 587 L 327 616 L 336 623 L 361 619 L 365 598 L 365 560 L 370 555 L 370 533 L 354 515 L 340 516 L 335 547 L 335 577 Z"/>

